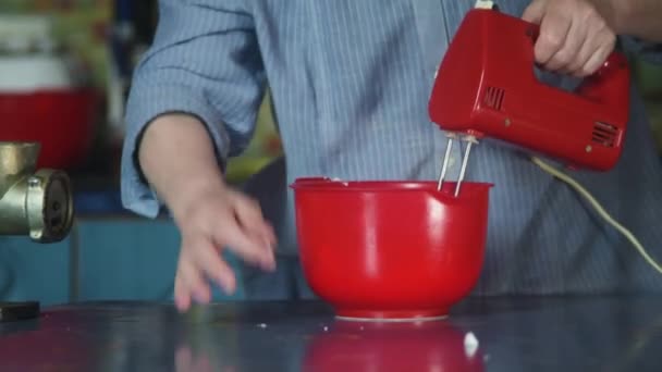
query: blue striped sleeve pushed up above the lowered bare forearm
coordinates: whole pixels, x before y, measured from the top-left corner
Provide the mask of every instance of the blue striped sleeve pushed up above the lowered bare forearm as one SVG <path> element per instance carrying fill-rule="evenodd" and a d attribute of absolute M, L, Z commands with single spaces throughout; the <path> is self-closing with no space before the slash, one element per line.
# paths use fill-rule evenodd
<path fill-rule="evenodd" d="M 249 142 L 265 77 L 244 7 L 242 0 L 159 1 L 155 39 L 136 65 L 126 103 L 121 164 L 126 209 L 154 218 L 163 207 L 136 161 L 140 135 L 157 116 L 180 112 L 199 119 L 221 168 Z"/>

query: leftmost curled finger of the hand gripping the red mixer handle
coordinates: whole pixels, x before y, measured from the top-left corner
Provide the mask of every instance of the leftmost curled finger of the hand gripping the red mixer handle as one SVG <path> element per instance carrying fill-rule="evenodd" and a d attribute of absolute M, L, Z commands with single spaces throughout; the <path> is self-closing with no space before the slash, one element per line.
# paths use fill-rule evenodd
<path fill-rule="evenodd" d="M 547 65 L 552 57 L 563 48 L 572 26 L 569 17 L 557 13 L 548 13 L 540 24 L 540 36 L 536 41 L 536 62 Z"/>

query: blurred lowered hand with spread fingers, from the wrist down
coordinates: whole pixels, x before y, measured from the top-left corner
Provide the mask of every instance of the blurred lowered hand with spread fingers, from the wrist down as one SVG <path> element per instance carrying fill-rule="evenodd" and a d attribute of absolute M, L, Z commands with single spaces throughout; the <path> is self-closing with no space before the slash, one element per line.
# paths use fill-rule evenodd
<path fill-rule="evenodd" d="M 209 302 L 208 281 L 226 293 L 235 290 L 235 275 L 220 255 L 223 249 L 266 271 L 275 269 L 275 234 L 256 201 L 226 186 L 191 191 L 195 198 L 174 211 L 182 234 L 174 287 L 180 311 L 192 300 Z"/>

